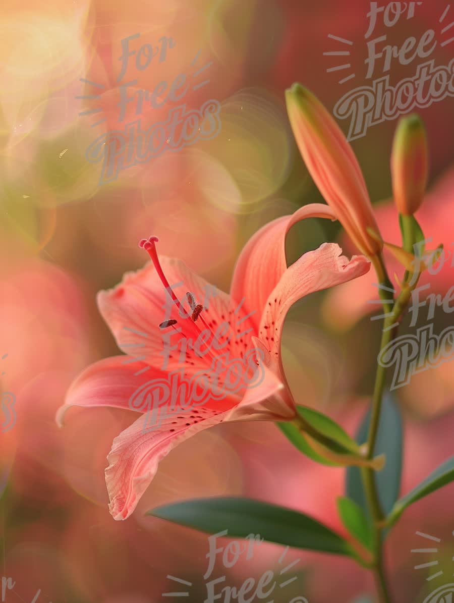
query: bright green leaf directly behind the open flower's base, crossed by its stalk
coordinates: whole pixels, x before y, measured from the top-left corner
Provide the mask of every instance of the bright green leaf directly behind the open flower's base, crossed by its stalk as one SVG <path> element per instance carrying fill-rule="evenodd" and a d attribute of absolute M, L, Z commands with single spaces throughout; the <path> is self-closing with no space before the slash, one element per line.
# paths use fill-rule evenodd
<path fill-rule="evenodd" d="M 306 406 L 297 406 L 297 410 L 298 414 L 303 417 L 309 425 L 316 429 L 320 434 L 332 440 L 334 452 L 339 454 L 358 453 L 358 446 L 355 440 L 350 438 L 347 432 L 331 418 L 312 408 L 307 408 Z M 300 452 L 309 456 L 309 458 L 312 458 L 312 460 L 317 463 L 330 466 L 344 466 L 344 463 L 341 463 L 340 461 L 339 463 L 336 463 L 330 459 L 324 458 L 320 453 L 315 452 L 303 433 L 301 433 L 300 429 L 293 423 L 286 421 L 285 423 L 277 423 L 277 426 L 286 438 L 300 450 Z"/>

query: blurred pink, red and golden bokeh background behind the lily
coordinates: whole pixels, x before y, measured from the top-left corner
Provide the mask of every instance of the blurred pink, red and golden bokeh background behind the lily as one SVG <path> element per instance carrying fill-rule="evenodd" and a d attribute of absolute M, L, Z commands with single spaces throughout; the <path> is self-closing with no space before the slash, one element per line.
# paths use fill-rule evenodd
<path fill-rule="evenodd" d="M 430 58 L 448 65 L 454 42 L 440 43 L 454 31 L 441 33 L 446 6 L 444 0 L 424 2 L 392 30 L 379 21 L 374 36 L 388 34 L 388 42 L 400 46 L 433 28 L 438 43 Z M 140 238 L 159 236 L 161 253 L 180 257 L 228 291 L 236 257 L 251 234 L 270 219 L 321 201 L 297 152 L 284 91 L 300 81 L 332 110 L 349 89 L 370 85 L 364 65 L 368 8 L 362 0 L 2 1 L 0 380 L 2 391 L 16 396 L 17 413 L 13 428 L 0 433 L 0 575 L 16 582 L 8 603 L 28 603 L 39 589 L 39 603 L 152 603 L 175 590 L 167 575 L 192 583 L 185 600 L 203 601 L 206 535 L 144 516 L 174 500 L 243 494 L 311 513 L 343 531 L 335 498 L 343 493 L 344 471 L 302 458 L 274 425 L 256 423 L 202 432 L 175 449 L 133 516 L 115 522 L 104 468 L 112 440 L 131 414 L 73 409 L 62 430 L 54 416 L 72 379 L 118 352 L 95 294 L 143 265 Z M 443 27 L 453 19 L 451 8 Z M 143 71 L 131 63 L 128 75 L 137 89 L 154 90 L 162 80 L 192 74 L 198 55 L 198 68 L 212 63 L 204 72 L 210 81 L 190 89 L 184 103 L 198 109 L 216 99 L 222 128 L 212 140 L 163 153 L 100 184 L 101 165 L 88 162 L 85 152 L 97 137 L 121 127 L 121 40 L 136 33 L 136 51 L 142 43 L 156 47 L 163 37 L 174 42 L 162 62 L 156 55 Z M 344 84 L 338 81 L 350 71 L 327 71 L 340 64 L 339 57 L 323 53 L 345 49 L 329 34 L 353 42 L 347 60 L 356 76 Z M 402 66 L 394 60 L 391 83 L 414 75 L 422 62 L 417 57 Z M 98 98 L 76 98 L 87 95 Z M 142 124 L 165 121 L 172 106 L 144 105 Z M 93 107 L 99 112 L 79 115 Z M 453 109 L 446 96 L 420 110 L 430 188 L 417 218 L 434 247 L 443 242 L 448 250 L 454 243 Z M 389 201 L 396 122 L 370 127 L 352 145 L 382 235 L 398 243 Z M 340 125 L 347 132 L 347 122 Z M 298 224 L 288 238 L 289 261 L 335 240 L 345 253 L 355 253 L 338 224 Z M 393 265 L 391 274 L 395 270 Z M 425 282 L 444 294 L 453 275 L 449 261 Z M 370 320 L 377 308 L 367 303 L 377 297 L 373 281 L 373 274 L 366 275 L 304 299 L 292 308 L 283 337 L 297 402 L 330 414 L 352 434 L 368 402 L 379 346 L 379 322 Z M 427 323 L 425 312 L 418 326 Z M 451 317 L 438 308 L 434 331 L 449 326 Z M 416 328 L 408 319 L 403 333 Z M 405 418 L 403 493 L 452 455 L 453 367 L 445 362 L 397 390 Z M 452 581 L 453 495 L 446 487 L 414 505 L 389 535 L 388 572 L 399 603 L 423 601 Z M 426 561 L 438 560 L 444 574 L 431 582 L 425 578 L 433 568 L 414 569 L 417 531 L 441 539 L 439 554 Z M 258 579 L 277 567 L 282 551 L 260 545 L 252 560 L 229 570 L 226 584 Z M 295 550 L 286 557 L 298 558 L 298 581 L 279 593 L 279 601 L 304 595 L 310 603 L 349 603 L 373 592 L 370 576 L 353 561 Z M 225 573 L 221 566 L 215 571 Z"/>

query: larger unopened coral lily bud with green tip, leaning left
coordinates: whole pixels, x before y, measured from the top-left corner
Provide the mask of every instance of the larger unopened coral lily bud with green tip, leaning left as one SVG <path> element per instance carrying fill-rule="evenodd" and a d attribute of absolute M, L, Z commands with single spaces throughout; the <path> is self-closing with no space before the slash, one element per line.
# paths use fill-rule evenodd
<path fill-rule="evenodd" d="M 356 247 L 367 256 L 382 250 L 370 198 L 352 147 L 324 106 L 309 90 L 286 90 L 287 112 L 300 153 L 318 190 L 335 211 Z"/>

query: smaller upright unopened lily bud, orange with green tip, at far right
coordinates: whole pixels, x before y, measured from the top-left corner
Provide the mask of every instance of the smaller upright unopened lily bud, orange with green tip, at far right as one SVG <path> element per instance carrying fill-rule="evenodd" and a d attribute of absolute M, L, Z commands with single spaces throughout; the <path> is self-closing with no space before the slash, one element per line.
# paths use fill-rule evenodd
<path fill-rule="evenodd" d="M 423 202 L 429 161 L 424 124 L 418 115 L 402 118 L 391 154 L 393 195 L 399 213 L 411 216 Z"/>

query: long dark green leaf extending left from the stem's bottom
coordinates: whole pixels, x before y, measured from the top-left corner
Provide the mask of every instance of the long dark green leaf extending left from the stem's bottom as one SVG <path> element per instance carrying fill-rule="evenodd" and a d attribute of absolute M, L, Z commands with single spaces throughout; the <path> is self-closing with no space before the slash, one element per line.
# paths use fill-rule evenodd
<path fill-rule="evenodd" d="M 303 513 L 241 497 L 192 499 L 157 507 L 147 515 L 215 534 L 236 538 L 251 533 L 279 545 L 354 556 L 339 534 Z"/>

